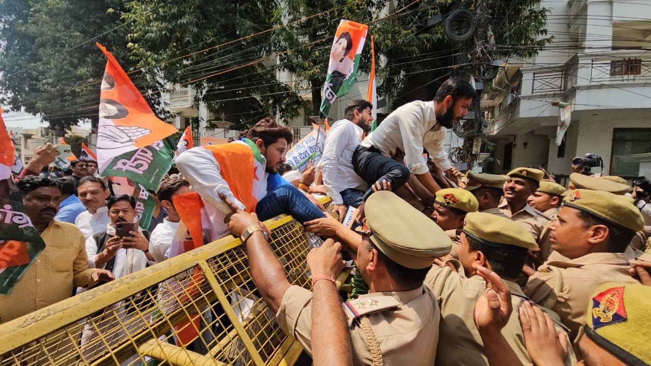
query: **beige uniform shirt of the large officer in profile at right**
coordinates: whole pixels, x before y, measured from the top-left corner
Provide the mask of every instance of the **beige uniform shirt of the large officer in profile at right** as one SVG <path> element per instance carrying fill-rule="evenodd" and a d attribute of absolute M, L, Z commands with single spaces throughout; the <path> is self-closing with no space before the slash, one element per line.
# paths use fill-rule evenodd
<path fill-rule="evenodd" d="M 575 341 L 592 293 L 605 283 L 637 282 L 628 274 L 629 261 L 651 260 L 651 255 L 627 247 L 624 253 L 590 253 L 577 259 L 552 255 L 550 259 L 529 277 L 524 293 L 558 313 Z"/>

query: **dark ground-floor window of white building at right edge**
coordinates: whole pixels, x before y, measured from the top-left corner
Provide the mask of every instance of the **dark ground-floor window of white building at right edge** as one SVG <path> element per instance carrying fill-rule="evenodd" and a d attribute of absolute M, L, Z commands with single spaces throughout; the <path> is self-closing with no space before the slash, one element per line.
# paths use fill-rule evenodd
<path fill-rule="evenodd" d="M 615 128 L 610 175 L 637 176 L 640 165 L 631 155 L 651 152 L 651 128 Z"/>

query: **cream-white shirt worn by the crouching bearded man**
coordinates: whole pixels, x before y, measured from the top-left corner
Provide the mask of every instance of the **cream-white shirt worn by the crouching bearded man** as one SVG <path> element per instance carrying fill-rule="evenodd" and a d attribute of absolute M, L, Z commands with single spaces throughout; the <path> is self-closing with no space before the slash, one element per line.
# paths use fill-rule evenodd
<path fill-rule="evenodd" d="M 393 156 L 396 148 L 405 154 L 405 163 L 414 174 L 424 174 L 430 171 L 422 158 L 422 148 L 432 156 L 435 163 L 443 170 L 450 169 L 452 164 L 443 150 L 445 129 L 436 122 L 434 102 L 416 100 L 398 107 L 380 126 L 368 135 L 361 145 L 376 147 L 383 155 Z"/>

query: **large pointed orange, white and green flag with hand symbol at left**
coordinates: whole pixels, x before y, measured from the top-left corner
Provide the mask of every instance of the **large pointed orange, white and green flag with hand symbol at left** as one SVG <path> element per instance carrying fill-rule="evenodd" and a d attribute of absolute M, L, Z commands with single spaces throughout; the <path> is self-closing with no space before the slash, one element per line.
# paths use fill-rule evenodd
<path fill-rule="evenodd" d="M 124 176 L 158 190 L 172 166 L 174 148 L 166 137 L 176 128 L 158 119 L 117 60 L 107 58 L 100 91 L 97 163 L 103 176 Z"/>

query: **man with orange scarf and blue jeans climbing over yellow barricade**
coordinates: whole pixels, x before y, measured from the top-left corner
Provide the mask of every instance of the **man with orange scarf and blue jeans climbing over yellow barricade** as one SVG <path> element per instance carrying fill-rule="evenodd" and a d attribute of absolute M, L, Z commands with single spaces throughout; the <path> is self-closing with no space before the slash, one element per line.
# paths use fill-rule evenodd
<path fill-rule="evenodd" d="M 228 234 L 223 219 L 230 209 L 219 193 L 242 210 L 256 212 L 262 221 L 279 214 L 290 214 L 301 223 L 326 217 L 318 207 L 323 206 L 314 197 L 301 193 L 278 174 L 292 140 L 289 128 L 268 117 L 249 129 L 242 140 L 191 148 L 176 158 L 176 167 L 193 189 L 205 203 L 216 208 L 211 208 L 216 236 L 211 240 Z"/>

